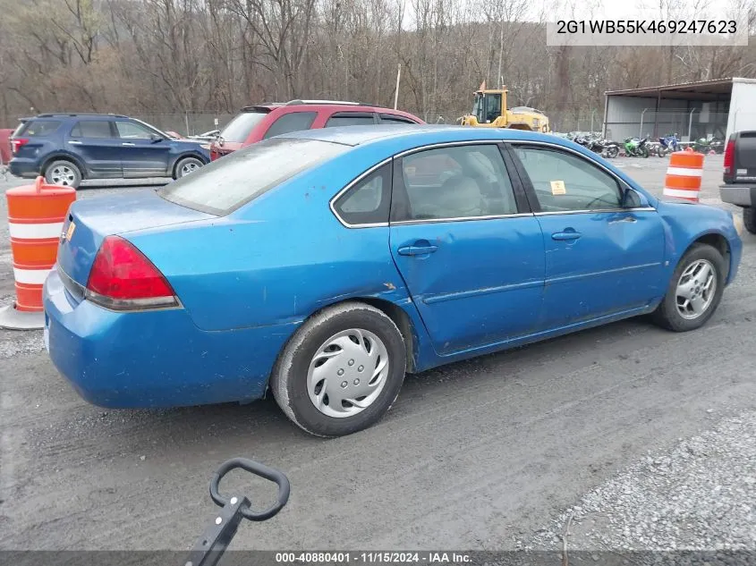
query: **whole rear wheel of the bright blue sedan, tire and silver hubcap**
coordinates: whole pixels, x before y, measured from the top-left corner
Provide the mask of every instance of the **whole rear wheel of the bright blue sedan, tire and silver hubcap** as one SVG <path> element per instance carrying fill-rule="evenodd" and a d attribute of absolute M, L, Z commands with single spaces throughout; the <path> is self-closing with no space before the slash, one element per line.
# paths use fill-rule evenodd
<path fill-rule="evenodd" d="M 378 308 L 347 302 L 310 317 L 293 335 L 270 389 L 286 416 L 311 435 L 350 435 L 391 408 L 405 367 L 394 321 Z"/>

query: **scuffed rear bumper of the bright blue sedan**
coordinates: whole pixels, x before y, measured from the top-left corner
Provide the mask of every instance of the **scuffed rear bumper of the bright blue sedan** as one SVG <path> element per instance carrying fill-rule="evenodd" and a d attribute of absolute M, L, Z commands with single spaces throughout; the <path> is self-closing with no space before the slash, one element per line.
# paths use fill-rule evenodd
<path fill-rule="evenodd" d="M 44 305 L 57 370 L 85 400 L 120 409 L 259 399 L 298 325 L 206 332 L 183 308 L 114 312 L 75 300 L 55 269 Z"/>

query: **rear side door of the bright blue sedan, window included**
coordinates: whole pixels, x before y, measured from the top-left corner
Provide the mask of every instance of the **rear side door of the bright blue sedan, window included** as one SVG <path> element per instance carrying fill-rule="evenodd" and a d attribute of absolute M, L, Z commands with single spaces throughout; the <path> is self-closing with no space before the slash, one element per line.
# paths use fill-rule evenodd
<path fill-rule="evenodd" d="M 543 238 L 495 143 L 395 159 L 390 246 L 439 354 L 539 329 Z"/>

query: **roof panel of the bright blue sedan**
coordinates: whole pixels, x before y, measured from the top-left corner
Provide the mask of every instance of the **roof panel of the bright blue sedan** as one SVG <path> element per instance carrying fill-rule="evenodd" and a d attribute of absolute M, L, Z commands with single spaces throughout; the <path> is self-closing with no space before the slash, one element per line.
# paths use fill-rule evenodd
<path fill-rule="evenodd" d="M 376 124 L 374 126 L 345 126 L 340 128 L 318 128 L 314 130 L 293 131 L 281 136 L 284 138 L 316 139 L 360 146 L 378 140 L 404 139 L 406 142 L 427 144 L 446 141 L 471 141 L 476 139 L 514 139 L 534 141 L 560 140 L 556 136 L 534 131 L 504 128 L 471 128 L 446 124 Z"/>

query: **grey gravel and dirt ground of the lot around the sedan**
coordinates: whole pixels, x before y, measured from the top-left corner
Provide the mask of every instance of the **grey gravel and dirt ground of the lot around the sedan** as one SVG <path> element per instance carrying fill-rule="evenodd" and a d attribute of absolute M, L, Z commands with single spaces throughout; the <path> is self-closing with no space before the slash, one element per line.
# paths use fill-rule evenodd
<path fill-rule="evenodd" d="M 667 160 L 615 161 L 660 193 Z M 701 197 L 723 206 L 720 172 L 707 157 Z M 13 296 L 5 217 L 3 200 L 0 304 Z M 756 237 L 743 242 L 701 331 L 632 319 L 411 376 L 377 427 L 336 440 L 304 435 L 273 401 L 98 409 L 57 376 L 41 333 L 0 331 L 0 548 L 185 549 L 212 516 L 208 478 L 243 455 L 293 489 L 235 548 L 558 554 L 569 520 L 570 552 L 756 558 Z"/>

